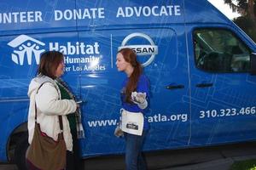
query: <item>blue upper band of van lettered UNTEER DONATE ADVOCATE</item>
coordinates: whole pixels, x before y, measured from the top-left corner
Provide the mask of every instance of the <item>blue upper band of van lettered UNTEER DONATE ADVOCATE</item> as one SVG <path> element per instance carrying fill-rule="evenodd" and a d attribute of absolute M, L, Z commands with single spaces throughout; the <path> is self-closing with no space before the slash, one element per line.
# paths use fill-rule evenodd
<path fill-rule="evenodd" d="M 137 27 L 230 20 L 207 0 L 90 1 L 4 0 L 0 3 L 0 34 L 76 31 L 80 28 Z M 15 4 L 15 8 L 13 7 Z"/>

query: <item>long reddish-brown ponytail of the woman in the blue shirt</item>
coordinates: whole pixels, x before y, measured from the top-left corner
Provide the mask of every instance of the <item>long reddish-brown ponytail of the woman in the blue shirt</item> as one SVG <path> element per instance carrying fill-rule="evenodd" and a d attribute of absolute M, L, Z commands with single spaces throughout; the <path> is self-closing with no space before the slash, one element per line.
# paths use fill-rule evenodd
<path fill-rule="evenodd" d="M 137 61 L 137 56 L 131 48 L 122 48 L 118 53 L 122 54 L 125 61 L 133 67 L 133 71 L 125 87 L 125 101 L 131 103 L 131 93 L 137 88 L 139 77 L 143 74 L 143 67 Z"/>

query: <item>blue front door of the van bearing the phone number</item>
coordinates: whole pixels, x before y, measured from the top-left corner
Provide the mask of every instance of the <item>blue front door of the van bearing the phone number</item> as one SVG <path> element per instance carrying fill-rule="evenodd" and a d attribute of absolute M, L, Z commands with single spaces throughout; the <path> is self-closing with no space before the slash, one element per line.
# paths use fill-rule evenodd
<path fill-rule="evenodd" d="M 230 32 L 230 35 L 234 35 L 246 47 L 250 46 L 250 43 L 242 41 L 241 32 L 225 25 L 187 26 L 188 33 L 191 35 L 189 36 L 188 42 L 195 42 L 195 39 L 192 39 L 192 37 L 195 37 L 193 32 L 202 28 L 211 31 L 220 30 Z M 222 36 L 224 37 L 226 35 Z M 232 44 L 234 42 L 229 43 Z M 213 43 L 209 45 L 213 47 Z M 230 48 L 224 49 L 224 54 L 218 50 L 215 53 L 219 57 L 224 56 L 228 59 L 231 55 L 229 51 L 237 51 L 237 48 L 239 46 L 235 46 L 235 48 L 231 46 Z M 250 75 L 248 72 L 235 72 L 236 70 L 230 70 L 230 72 L 204 71 L 199 65 L 196 65 L 195 53 L 195 44 L 190 45 L 189 67 L 191 72 L 192 111 L 190 145 L 212 145 L 255 140 L 256 92 L 254 88 L 256 77 Z M 205 54 L 204 59 L 207 60 L 209 57 L 210 54 Z M 230 60 L 231 62 L 232 59 Z M 223 64 L 228 65 L 228 63 Z M 221 68 L 219 67 L 218 69 Z M 204 86 L 207 84 L 209 86 Z"/>

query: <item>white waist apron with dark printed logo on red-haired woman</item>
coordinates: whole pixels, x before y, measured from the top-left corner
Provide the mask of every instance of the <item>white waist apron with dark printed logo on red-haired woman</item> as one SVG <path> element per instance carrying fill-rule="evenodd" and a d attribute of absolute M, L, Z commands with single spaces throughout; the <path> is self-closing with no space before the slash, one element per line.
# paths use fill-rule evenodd
<path fill-rule="evenodd" d="M 131 112 L 122 109 L 121 129 L 125 133 L 141 136 L 143 134 L 144 116 L 141 112 Z"/>

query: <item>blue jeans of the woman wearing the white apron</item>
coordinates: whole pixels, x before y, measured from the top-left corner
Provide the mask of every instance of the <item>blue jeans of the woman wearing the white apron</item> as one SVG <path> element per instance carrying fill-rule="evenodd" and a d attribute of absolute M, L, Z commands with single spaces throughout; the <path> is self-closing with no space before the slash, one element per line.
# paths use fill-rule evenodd
<path fill-rule="evenodd" d="M 138 136 L 125 133 L 125 169 L 126 170 L 146 170 L 147 165 L 143 159 L 143 140 L 147 131 L 143 130 L 143 135 Z"/>

